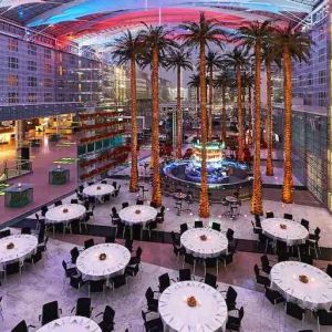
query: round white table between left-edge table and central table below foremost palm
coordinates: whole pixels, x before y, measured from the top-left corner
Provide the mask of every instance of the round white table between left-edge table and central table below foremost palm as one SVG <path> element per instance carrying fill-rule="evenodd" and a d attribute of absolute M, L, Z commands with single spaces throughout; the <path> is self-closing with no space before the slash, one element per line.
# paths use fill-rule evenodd
<path fill-rule="evenodd" d="M 101 260 L 100 255 L 106 259 Z M 101 280 L 123 273 L 131 260 L 127 248 L 116 243 L 102 243 L 85 249 L 76 260 L 76 268 L 85 280 Z"/>

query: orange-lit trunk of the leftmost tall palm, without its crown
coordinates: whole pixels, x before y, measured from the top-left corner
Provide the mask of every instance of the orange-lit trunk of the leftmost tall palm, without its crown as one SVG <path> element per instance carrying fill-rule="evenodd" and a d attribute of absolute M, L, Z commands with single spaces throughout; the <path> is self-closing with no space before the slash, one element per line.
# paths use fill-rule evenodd
<path fill-rule="evenodd" d="M 138 190 L 138 167 L 137 167 L 137 102 L 136 102 L 136 61 L 135 54 L 131 60 L 131 92 L 132 92 L 132 168 L 129 191 Z"/>

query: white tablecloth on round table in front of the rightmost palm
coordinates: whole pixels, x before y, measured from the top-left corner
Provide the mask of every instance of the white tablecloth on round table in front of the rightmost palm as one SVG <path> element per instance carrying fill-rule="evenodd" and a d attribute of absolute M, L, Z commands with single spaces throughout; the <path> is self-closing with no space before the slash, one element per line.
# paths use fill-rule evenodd
<path fill-rule="evenodd" d="M 280 225 L 286 225 L 282 229 Z M 288 246 L 297 246 L 304 243 L 309 237 L 309 232 L 301 224 L 287 220 L 283 218 L 268 218 L 261 221 L 262 232 L 272 238 L 287 242 Z"/>

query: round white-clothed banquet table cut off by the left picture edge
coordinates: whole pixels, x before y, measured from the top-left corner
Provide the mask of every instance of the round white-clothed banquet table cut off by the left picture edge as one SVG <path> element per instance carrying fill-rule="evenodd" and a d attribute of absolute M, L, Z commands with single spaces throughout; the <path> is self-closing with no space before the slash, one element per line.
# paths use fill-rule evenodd
<path fill-rule="evenodd" d="M 7 249 L 13 243 L 12 249 Z M 35 236 L 18 234 L 0 239 L 0 267 L 15 261 L 23 261 L 37 251 L 38 239 Z"/>

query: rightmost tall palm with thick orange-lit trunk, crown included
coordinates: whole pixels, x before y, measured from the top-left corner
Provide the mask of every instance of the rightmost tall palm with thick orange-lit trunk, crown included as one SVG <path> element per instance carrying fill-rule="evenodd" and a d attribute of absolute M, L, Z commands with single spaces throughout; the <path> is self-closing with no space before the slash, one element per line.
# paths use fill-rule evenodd
<path fill-rule="evenodd" d="M 308 61 L 313 41 L 310 35 L 291 24 L 286 28 L 276 28 L 273 42 L 282 52 L 283 65 L 283 188 L 282 201 L 293 203 L 293 176 L 292 176 L 292 59 Z"/>

